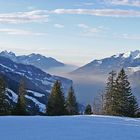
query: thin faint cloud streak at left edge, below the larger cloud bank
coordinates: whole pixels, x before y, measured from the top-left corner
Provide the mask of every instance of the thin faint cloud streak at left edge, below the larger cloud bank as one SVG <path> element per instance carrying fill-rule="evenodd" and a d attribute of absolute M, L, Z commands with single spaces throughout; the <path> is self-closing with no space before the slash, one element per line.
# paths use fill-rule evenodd
<path fill-rule="evenodd" d="M 8 34 L 8 35 L 25 35 L 25 36 L 41 36 L 46 35 L 46 33 L 40 33 L 40 32 L 32 32 L 28 30 L 22 30 L 22 29 L 0 29 L 0 33 Z"/>

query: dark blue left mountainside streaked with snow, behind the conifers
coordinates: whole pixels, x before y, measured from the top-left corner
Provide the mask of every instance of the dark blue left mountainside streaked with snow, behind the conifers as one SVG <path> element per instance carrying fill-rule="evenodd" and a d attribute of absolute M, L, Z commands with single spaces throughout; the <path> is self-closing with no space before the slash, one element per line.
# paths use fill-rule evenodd
<path fill-rule="evenodd" d="M 21 79 L 26 83 L 26 99 L 30 111 L 39 108 L 40 112 L 45 111 L 47 97 L 51 92 L 56 80 L 62 82 L 64 93 L 68 91 L 72 81 L 63 77 L 53 76 L 43 72 L 32 65 L 15 63 L 9 58 L 0 56 L 0 74 L 4 76 L 7 83 L 8 99 L 15 103 L 17 101 L 18 87 Z"/>

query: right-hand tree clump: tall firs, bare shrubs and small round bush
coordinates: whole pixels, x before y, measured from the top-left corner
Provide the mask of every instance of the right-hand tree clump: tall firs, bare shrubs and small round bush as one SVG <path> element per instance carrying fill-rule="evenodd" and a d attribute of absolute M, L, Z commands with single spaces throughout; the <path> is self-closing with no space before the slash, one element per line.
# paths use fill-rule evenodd
<path fill-rule="evenodd" d="M 118 74 L 115 71 L 109 73 L 105 92 L 99 95 L 93 107 L 87 105 L 86 114 L 140 117 L 138 102 L 124 69 Z"/>

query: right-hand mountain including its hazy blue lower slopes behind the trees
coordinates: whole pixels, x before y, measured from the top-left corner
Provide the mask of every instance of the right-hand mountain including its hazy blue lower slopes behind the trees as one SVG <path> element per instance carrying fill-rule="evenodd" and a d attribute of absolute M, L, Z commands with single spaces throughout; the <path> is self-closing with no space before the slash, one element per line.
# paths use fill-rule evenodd
<path fill-rule="evenodd" d="M 109 72 L 118 72 L 122 68 L 128 75 L 132 92 L 140 102 L 140 50 L 95 59 L 72 71 L 70 77 L 75 84 L 79 101 L 92 104 L 95 96 L 104 91 Z"/>

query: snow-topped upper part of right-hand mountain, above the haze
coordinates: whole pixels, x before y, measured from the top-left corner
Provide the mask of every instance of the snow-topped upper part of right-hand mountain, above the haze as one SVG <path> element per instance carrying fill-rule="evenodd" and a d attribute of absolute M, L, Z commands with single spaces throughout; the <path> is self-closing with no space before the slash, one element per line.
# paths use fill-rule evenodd
<path fill-rule="evenodd" d="M 121 53 L 113 55 L 101 60 L 93 60 L 92 62 L 84 65 L 77 70 L 73 71 L 73 74 L 100 74 L 108 73 L 112 70 L 119 70 L 126 68 L 128 71 L 135 72 L 140 70 L 140 50 Z"/>

